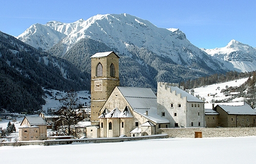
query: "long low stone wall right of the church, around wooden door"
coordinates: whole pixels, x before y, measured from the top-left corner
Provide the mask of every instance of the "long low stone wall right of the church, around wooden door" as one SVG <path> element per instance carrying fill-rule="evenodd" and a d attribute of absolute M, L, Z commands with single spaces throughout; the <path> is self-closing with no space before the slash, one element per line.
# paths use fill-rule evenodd
<path fill-rule="evenodd" d="M 160 128 L 160 134 L 169 137 L 195 137 L 195 132 L 201 131 L 202 137 L 241 137 L 256 136 L 256 127 L 251 128 Z"/>

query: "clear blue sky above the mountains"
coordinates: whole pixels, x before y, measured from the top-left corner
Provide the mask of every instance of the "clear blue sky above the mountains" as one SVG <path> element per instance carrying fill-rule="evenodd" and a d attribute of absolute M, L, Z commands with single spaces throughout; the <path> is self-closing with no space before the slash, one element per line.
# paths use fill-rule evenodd
<path fill-rule="evenodd" d="M 0 2 L 0 6 L 0 31 L 13 36 L 36 23 L 74 22 L 97 14 L 127 13 L 159 28 L 179 28 L 199 48 L 221 48 L 231 39 L 256 48 L 255 0 L 8 0 Z"/>

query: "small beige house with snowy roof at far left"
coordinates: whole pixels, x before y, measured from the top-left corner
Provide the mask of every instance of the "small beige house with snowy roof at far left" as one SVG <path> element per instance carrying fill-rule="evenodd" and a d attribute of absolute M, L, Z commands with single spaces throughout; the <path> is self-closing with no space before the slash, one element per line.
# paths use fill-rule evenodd
<path fill-rule="evenodd" d="M 19 140 L 44 140 L 47 138 L 46 121 L 40 116 L 25 116 L 19 128 Z"/>

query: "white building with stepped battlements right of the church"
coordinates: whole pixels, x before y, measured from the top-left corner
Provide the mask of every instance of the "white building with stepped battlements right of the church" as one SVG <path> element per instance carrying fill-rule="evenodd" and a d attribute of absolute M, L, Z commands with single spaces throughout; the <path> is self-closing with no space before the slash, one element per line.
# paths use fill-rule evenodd
<path fill-rule="evenodd" d="M 177 84 L 158 82 L 157 112 L 169 120 L 169 127 L 205 127 L 204 102 Z"/>

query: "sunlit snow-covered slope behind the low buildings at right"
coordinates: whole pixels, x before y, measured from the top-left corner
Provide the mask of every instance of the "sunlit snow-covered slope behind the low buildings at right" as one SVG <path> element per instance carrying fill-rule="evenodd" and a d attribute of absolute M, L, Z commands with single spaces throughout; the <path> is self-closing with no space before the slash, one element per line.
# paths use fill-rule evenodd
<path fill-rule="evenodd" d="M 234 81 L 229 81 L 225 83 L 218 83 L 218 84 L 212 84 L 212 85 L 207 85 L 199 88 L 195 88 L 195 96 L 199 95 L 202 98 L 205 98 L 205 102 L 210 103 L 210 101 L 213 99 L 215 100 L 225 100 L 230 98 L 230 96 L 225 97 L 223 93 L 221 93 L 221 89 L 225 89 L 226 86 L 240 86 L 244 82 L 247 81 L 248 78 L 243 78 L 239 80 L 234 80 Z M 219 87 L 219 89 L 217 89 Z M 215 96 L 208 96 L 208 94 L 216 94 Z M 233 101 L 243 101 L 243 99 L 234 99 Z"/>

